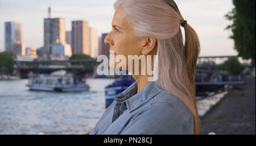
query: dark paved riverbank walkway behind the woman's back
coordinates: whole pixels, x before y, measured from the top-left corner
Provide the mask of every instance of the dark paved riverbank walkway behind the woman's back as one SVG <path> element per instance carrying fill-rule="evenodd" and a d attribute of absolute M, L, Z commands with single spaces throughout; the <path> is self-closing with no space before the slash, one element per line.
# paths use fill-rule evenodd
<path fill-rule="evenodd" d="M 244 80 L 201 118 L 200 134 L 255 134 L 255 77 Z"/>

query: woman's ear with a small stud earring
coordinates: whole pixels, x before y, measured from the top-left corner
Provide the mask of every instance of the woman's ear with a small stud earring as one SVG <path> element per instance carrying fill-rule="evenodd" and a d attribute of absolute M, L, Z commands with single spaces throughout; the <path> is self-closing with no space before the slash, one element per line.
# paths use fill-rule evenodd
<path fill-rule="evenodd" d="M 156 39 L 154 37 L 145 37 L 144 45 L 142 47 L 142 55 L 148 55 L 155 49 Z"/>

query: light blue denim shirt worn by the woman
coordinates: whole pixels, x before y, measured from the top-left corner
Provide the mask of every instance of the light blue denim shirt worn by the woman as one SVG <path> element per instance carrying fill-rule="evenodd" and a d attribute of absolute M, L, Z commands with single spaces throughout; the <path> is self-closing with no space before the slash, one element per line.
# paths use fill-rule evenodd
<path fill-rule="evenodd" d="M 137 93 L 137 82 L 115 100 L 89 135 L 193 134 L 191 111 L 155 82 Z"/>

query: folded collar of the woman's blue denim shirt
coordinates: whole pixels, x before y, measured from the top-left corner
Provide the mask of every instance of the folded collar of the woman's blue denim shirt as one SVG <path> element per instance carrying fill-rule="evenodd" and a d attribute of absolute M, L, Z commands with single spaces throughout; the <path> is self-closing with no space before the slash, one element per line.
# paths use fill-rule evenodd
<path fill-rule="evenodd" d="M 138 94 L 137 88 L 137 82 L 134 82 L 122 93 L 115 95 L 115 101 L 117 103 L 125 102 L 127 109 L 131 112 L 163 90 L 155 82 L 148 83 Z"/>

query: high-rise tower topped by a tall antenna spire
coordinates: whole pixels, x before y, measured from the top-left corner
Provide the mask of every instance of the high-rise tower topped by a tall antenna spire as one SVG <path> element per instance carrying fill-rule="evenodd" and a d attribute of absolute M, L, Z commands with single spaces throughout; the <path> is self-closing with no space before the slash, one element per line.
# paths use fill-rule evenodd
<path fill-rule="evenodd" d="M 60 43 L 66 42 L 65 19 L 52 18 L 51 7 L 48 9 L 49 18 L 44 19 L 44 53 L 51 54 L 52 44 L 59 40 Z"/>

